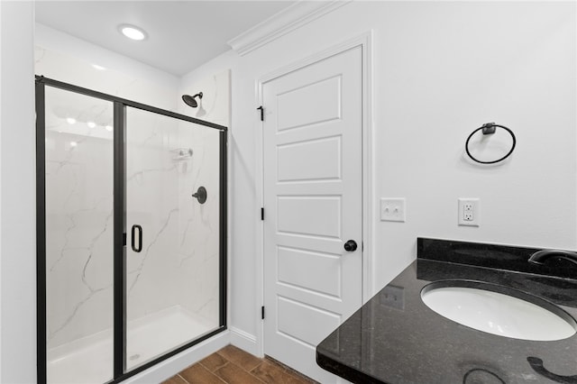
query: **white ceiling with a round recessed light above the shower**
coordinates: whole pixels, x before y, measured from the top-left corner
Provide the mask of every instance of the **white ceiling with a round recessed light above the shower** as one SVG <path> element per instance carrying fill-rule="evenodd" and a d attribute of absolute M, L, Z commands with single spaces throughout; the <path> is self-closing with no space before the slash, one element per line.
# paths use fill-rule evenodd
<path fill-rule="evenodd" d="M 226 43 L 290 1 L 37 1 L 36 22 L 175 76 L 230 50 Z M 148 33 L 131 41 L 118 25 Z"/>

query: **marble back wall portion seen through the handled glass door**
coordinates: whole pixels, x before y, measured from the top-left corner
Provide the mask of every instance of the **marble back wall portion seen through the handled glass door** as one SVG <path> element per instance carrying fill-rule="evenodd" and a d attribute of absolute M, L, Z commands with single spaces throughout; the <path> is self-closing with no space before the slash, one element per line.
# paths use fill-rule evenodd
<path fill-rule="evenodd" d="M 170 147 L 179 140 L 176 121 L 157 114 L 129 107 L 126 126 L 126 229 L 142 226 L 142 251 L 126 247 L 130 321 L 179 303 L 170 273 L 179 239 L 179 174 Z"/>

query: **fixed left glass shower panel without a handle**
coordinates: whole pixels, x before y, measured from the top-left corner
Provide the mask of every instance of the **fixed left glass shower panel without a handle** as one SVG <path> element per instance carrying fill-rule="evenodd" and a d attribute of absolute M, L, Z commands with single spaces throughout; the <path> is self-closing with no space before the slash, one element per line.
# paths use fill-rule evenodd
<path fill-rule="evenodd" d="M 113 378 L 113 104 L 46 87 L 47 382 Z"/>

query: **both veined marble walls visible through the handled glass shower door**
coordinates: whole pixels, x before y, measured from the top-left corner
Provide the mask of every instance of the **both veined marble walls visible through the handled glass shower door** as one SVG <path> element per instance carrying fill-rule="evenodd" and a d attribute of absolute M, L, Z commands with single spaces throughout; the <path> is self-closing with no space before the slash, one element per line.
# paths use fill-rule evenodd
<path fill-rule="evenodd" d="M 127 126 L 126 216 L 144 239 L 127 251 L 128 319 L 181 306 L 217 324 L 218 134 L 133 109 Z M 191 197 L 201 185 L 204 205 Z"/>

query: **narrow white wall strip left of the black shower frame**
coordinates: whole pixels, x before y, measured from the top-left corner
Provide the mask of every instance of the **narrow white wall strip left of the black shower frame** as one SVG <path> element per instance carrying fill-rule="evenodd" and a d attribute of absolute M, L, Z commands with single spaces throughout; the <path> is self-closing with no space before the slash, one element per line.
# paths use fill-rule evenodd
<path fill-rule="evenodd" d="M 0 2 L 0 382 L 36 382 L 33 6 Z"/>

